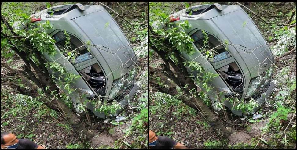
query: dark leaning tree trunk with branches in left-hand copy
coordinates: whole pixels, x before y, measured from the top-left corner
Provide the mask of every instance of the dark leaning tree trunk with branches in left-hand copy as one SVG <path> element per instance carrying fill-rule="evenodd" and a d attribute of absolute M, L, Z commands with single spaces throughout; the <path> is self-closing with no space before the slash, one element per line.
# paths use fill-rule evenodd
<path fill-rule="evenodd" d="M 8 42 L 10 43 L 10 45 L 13 45 L 10 38 L 23 39 L 22 37 L 18 37 L 16 34 L 14 34 L 13 28 L 8 23 L 8 21 L 5 19 L 5 17 L 2 16 L 2 14 L 1 14 L 1 20 L 3 23 L 5 23 L 7 28 L 13 34 L 13 36 L 8 37 L 8 39 L 9 39 Z M 3 32 L 1 32 L 1 34 L 3 34 Z M 3 34 L 3 35 L 7 36 L 5 34 Z M 16 83 L 11 83 L 9 85 L 12 86 L 13 88 L 17 88 L 21 94 L 29 95 L 33 98 L 40 96 L 37 92 L 37 87 L 43 89 L 43 92 L 47 95 L 47 98 L 41 98 L 40 101 L 45 102 L 44 104 L 47 107 L 49 107 L 50 109 L 53 109 L 53 110 L 57 111 L 58 113 L 62 114 L 64 119 L 73 128 L 75 133 L 80 135 L 79 138 L 82 137 L 82 138 L 85 138 L 87 141 L 89 141 L 92 137 L 94 137 L 95 132 L 92 130 L 88 131 L 86 129 L 86 127 L 82 124 L 82 122 L 79 120 L 79 118 L 77 118 L 75 116 L 75 113 L 71 109 L 68 108 L 68 106 L 63 102 L 62 98 L 58 95 L 59 88 L 56 86 L 55 82 L 51 79 L 50 74 L 49 74 L 47 68 L 45 67 L 44 59 L 42 58 L 42 55 L 40 54 L 40 52 L 33 49 L 32 45 L 28 39 L 26 39 L 24 41 L 24 44 L 26 45 L 26 48 L 28 50 L 31 50 L 31 52 L 35 53 L 40 64 L 39 64 L 39 66 L 37 66 L 31 59 L 28 59 L 29 54 L 27 52 L 20 51 L 16 45 L 13 45 L 11 47 L 11 49 L 13 49 L 13 51 L 15 51 L 21 57 L 21 59 L 25 62 L 25 64 L 22 66 L 23 70 L 22 71 L 14 70 L 14 69 L 10 68 L 7 64 L 4 64 L 4 63 L 3 64 L 1 63 L 1 64 L 3 66 L 5 66 L 5 68 L 9 69 L 11 73 L 20 77 L 20 79 L 23 81 L 23 83 L 27 84 L 29 89 L 21 88 Z M 31 67 L 33 68 L 35 73 L 33 73 Z M 35 85 L 32 85 L 28 79 L 33 81 L 33 83 L 37 87 Z M 47 86 L 50 86 L 50 89 L 44 90 L 44 88 Z M 58 95 L 56 98 L 54 98 L 52 96 L 52 94 L 51 94 L 52 91 L 55 91 L 54 94 Z"/>

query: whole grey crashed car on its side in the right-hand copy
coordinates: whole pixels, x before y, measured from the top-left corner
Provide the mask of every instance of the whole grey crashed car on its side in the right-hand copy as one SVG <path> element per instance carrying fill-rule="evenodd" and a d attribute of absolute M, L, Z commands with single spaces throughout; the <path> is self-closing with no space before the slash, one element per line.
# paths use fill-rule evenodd
<path fill-rule="evenodd" d="M 259 105 L 266 101 L 275 86 L 271 81 L 274 57 L 265 38 L 240 6 L 195 5 L 172 14 L 170 20 L 173 24 L 189 22 L 190 28 L 184 31 L 194 40 L 196 52 L 193 55 L 183 52 L 182 56 L 200 63 L 207 72 L 219 74 L 209 83 L 214 89 L 206 92 L 215 111 L 222 111 L 217 104 L 225 97 L 236 96 L 241 102 L 253 99 Z M 160 21 L 154 22 L 152 27 L 168 28 Z M 206 37 L 209 46 L 206 51 L 215 51 L 213 58 L 206 58 L 205 51 L 201 51 Z M 259 109 L 255 107 L 252 112 L 233 109 L 228 100 L 224 105 L 238 116 Z"/>

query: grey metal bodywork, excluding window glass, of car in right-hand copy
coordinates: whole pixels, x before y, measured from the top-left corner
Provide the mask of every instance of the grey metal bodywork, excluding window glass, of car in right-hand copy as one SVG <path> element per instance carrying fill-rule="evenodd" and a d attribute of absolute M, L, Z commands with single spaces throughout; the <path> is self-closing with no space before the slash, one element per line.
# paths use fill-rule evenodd
<path fill-rule="evenodd" d="M 193 9 L 194 11 L 197 8 L 207 8 L 210 5 L 211 4 L 196 5 L 190 7 L 189 9 Z M 183 9 L 172 14 L 171 17 L 179 18 L 179 20 L 173 22 L 174 24 L 187 20 L 191 27 L 189 29 L 185 29 L 184 31 L 190 36 L 192 36 L 196 31 L 204 30 L 207 34 L 214 36 L 221 44 L 224 44 L 224 42 L 228 43 L 223 46 L 228 49 L 228 53 L 231 57 L 219 60 L 215 63 L 208 61 L 205 56 L 199 52 L 194 43 L 193 46 L 196 49 L 196 52 L 193 55 L 188 55 L 185 52 L 182 52 L 182 56 L 188 61 L 199 62 L 207 72 L 219 74 L 218 77 L 209 83 L 210 86 L 215 87 L 214 90 L 207 92 L 210 99 L 215 101 L 217 101 L 217 99 L 224 98 L 225 95 L 237 94 L 232 88 L 230 88 L 227 82 L 223 80 L 222 75 L 217 71 L 218 69 L 234 62 L 243 75 L 243 91 L 240 94 L 240 100 L 245 101 L 245 95 L 248 92 L 251 79 L 262 76 L 262 73 L 273 65 L 274 58 L 269 45 L 260 33 L 259 29 L 240 6 L 223 5 L 221 8 L 222 10 L 213 8 L 205 12 L 201 11 L 203 12 L 201 14 L 194 15 L 186 13 L 189 9 Z M 152 27 L 168 28 L 168 26 L 160 22 L 153 23 Z M 274 84 L 270 83 L 266 91 L 263 91 L 262 96 L 255 99 L 255 101 L 257 101 L 260 105 L 263 104 L 273 88 Z M 205 89 L 203 90 L 205 91 Z M 220 98 L 214 96 L 218 95 L 220 91 L 224 91 L 224 94 L 221 95 Z M 243 115 L 240 110 L 232 109 L 229 101 L 225 101 L 225 105 L 230 108 L 234 114 L 238 116 Z M 259 108 L 255 108 L 253 113 L 255 113 L 257 109 Z"/>

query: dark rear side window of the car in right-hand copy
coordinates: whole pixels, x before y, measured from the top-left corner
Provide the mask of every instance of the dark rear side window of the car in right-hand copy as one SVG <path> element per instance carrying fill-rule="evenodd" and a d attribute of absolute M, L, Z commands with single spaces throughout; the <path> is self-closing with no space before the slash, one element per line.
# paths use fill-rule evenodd
<path fill-rule="evenodd" d="M 207 34 L 207 35 L 205 35 L 205 34 Z M 192 34 L 191 37 L 193 38 L 196 47 L 201 51 L 201 53 L 204 56 L 206 56 L 206 52 L 208 50 L 211 50 L 214 48 L 211 51 L 211 52 L 213 52 L 213 58 L 208 58 L 208 60 L 211 63 L 215 63 L 220 60 L 231 57 L 229 52 L 226 51 L 225 47 L 223 45 L 221 45 L 221 42 L 218 41 L 218 39 L 216 39 L 211 34 L 208 34 L 208 33 L 205 33 L 205 34 L 202 31 L 198 30 L 194 34 Z M 208 37 L 208 43 L 204 44 L 204 41 L 206 41 L 205 37 Z M 217 48 L 215 48 L 215 47 L 217 47 Z"/>

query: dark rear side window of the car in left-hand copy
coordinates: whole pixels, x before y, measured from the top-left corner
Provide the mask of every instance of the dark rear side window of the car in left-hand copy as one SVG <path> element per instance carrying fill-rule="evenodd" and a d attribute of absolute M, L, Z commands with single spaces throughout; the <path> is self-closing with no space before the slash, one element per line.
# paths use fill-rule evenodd
<path fill-rule="evenodd" d="M 74 63 L 80 63 L 89 59 L 92 59 L 93 56 L 92 54 L 87 50 L 85 46 L 83 46 L 82 42 L 79 41 L 78 38 L 75 36 L 69 34 L 70 36 L 70 48 L 68 49 L 67 52 L 75 50 L 77 52 L 77 55 L 75 56 L 75 61 Z M 56 41 L 57 47 L 64 52 L 65 51 L 65 43 L 66 43 L 66 35 L 64 32 L 59 31 L 53 36 L 54 40 Z M 67 52 L 64 52 L 64 55 L 67 54 Z"/>

